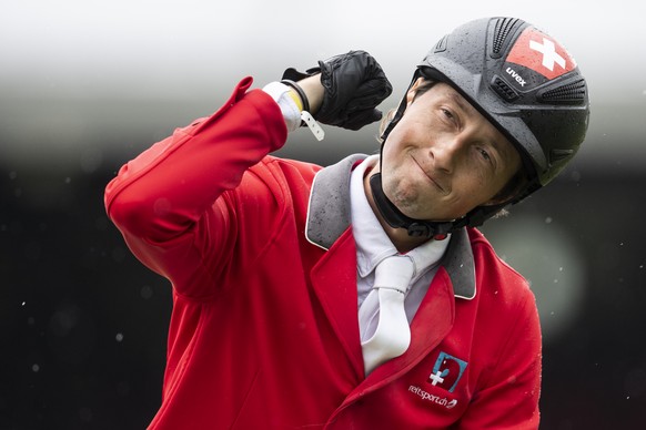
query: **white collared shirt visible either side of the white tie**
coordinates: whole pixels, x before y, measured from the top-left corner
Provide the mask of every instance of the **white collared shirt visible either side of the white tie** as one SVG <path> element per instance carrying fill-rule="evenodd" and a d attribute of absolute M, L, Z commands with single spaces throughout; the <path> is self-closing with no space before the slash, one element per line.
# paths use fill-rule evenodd
<path fill-rule="evenodd" d="M 376 163 L 378 163 L 378 155 L 367 157 L 354 168 L 350 178 L 352 233 L 356 242 L 359 307 L 361 307 L 374 285 L 376 265 L 385 257 L 397 254 L 397 249 L 384 232 L 365 196 L 363 180 L 366 170 L 375 166 Z M 450 237 L 445 240 L 428 240 L 407 253 L 415 266 L 415 273 L 411 280 L 412 287 L 408 289 L 404 300 L 408 324 L 413 320 L 422 299 L 428 290 L 431 281 L 437 272 L 440 259 L 448 246 L 448 240 Z"/>

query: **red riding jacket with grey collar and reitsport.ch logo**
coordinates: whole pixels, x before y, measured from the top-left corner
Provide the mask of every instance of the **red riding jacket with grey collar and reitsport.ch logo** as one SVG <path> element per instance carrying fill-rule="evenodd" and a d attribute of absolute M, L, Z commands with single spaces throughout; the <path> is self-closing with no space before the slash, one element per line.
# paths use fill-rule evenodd
<path fill-rule="evenodd" d="M 536 428 L 534 296 L 475 229 L 452 236 L 408 350 L 364 377 L 349 207 L 361 156 L 321 171 L 268 155 L 286 129 L 251 82 L 107 187 L 129 247 L 173 286 L 150 428 Z"/>

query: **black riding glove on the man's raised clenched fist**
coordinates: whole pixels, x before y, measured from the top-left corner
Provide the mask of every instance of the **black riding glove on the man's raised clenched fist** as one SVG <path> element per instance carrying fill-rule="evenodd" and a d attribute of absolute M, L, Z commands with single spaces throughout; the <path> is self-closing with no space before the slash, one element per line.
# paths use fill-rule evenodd
<path fill-rule="evenodd" d="M 317 68 L 305 73 L 287 69 L 283 79 L 299 81 L 316 73 L 321 73 L 325 89 L 321 109 L 314 114 L 316 121 L 359 130 L 382 117 L 382 112 L 375 108 L 391 95 L 393 86 L 371 54 L 350 51 L 319 61 Z"/>

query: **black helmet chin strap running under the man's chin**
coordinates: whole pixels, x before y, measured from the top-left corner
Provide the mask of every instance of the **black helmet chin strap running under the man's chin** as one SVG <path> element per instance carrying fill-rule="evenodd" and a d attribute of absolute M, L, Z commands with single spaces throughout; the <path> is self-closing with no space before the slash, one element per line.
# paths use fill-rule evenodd
<path fill-rule="evenodd" d="M 386 223 L 393 228 L 406 228 L 408 236 L 433 237 L 436 240 L 443 240 L 448 233 L 462 228 L 466 224 L 464 219 L 438 223 L 414 219 L 404 215 L 384 194 L 381 173 L 375 173 L 370 177 L 370 187 L 376 207 Z"/>

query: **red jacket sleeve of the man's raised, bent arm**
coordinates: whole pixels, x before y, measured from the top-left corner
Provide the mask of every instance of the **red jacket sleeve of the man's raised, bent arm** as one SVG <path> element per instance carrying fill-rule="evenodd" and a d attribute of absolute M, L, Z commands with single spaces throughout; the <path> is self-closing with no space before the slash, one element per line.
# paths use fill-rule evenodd
<path fill-rule="evenodd" d="M 130 249 L 175 287 L 215 276 L 212 263 L 234 245 L 225 193 L 286 141 L 277 104 L 263 91 L 248 92 L 251 84 L 242 80 L 218 112 L 128 162 L 105 188 L 108 215 Z"/>

